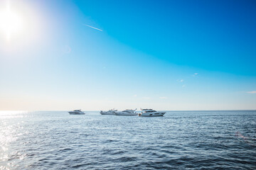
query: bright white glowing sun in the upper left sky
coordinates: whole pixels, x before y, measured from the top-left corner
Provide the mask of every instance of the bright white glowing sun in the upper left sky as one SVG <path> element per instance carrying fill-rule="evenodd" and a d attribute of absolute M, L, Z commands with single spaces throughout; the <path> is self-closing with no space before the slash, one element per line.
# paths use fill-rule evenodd
<path fill-rule="evenodd" d="M 12 11 L 10 6 L 0 11 L 0 30 L 6 35 L 6 39 L 10 40 L 11 36 L 20 32 L 23 28 L 21 16 Z"/>

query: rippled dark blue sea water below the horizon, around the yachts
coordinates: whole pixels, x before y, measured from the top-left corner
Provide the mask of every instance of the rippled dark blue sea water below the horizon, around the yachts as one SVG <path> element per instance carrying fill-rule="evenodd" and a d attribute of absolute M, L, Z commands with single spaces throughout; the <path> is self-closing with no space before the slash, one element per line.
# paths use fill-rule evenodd
<path fill-rule="evenodd" d="M 256 169 L 256 111 L 0 112 L 0 169 Z"/>

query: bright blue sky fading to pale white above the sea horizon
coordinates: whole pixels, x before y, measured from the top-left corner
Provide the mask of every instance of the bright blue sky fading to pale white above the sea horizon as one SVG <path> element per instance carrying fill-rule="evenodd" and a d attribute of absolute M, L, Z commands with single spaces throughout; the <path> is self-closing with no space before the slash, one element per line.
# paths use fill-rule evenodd
<path fill-rule="evenodd" d="M 1 1 L 0 110 L 256 109 L 255 30 L 255 1 Z"/>

